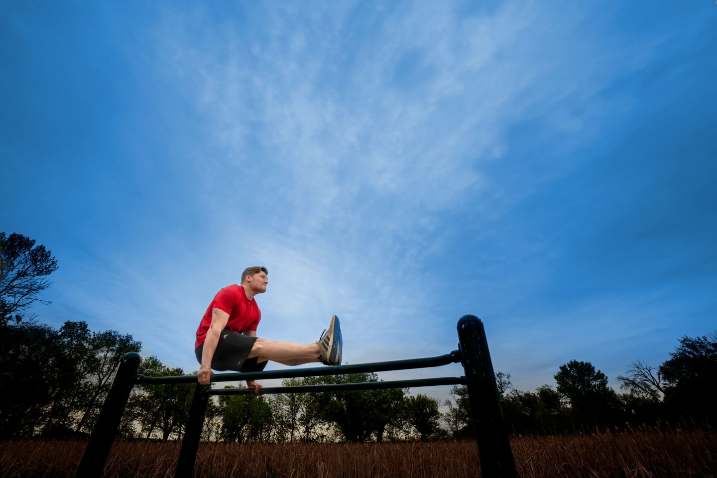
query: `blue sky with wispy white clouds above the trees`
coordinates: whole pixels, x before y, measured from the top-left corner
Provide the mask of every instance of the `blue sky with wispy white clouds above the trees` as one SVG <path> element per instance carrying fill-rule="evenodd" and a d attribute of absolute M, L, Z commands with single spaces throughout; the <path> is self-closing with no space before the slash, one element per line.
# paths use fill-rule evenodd
<path fill-rule="evenodd" d="M 260 336 L 417 358 L 475 314 L 517 388 L 617 388 L 717 328 L 716 44 L 710 1 L 7 2 L 0 230 L 60 264 L 40 320 L 188 372 L 262 264 Z"/>

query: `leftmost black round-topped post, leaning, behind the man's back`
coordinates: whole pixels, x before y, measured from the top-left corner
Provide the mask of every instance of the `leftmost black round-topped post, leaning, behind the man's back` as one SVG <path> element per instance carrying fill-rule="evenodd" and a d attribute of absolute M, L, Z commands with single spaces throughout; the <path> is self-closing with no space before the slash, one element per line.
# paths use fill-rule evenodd
<path fill-rule="evenodd" d="M 130 398 L 141 360 L 136 352 L 125 353 L 122 358 L 100 411 L 100 416 L 98 416 L 95 429 L 90 435 L 90 440 L 87 441 L 87 448 L 85 448 L 85 454 L 82 455 L 80 466 L 77 467 L 75 478 L 97 478 L 102 475 L 122 420 L 122 414 L 125 412 L 127 401 Z"/>

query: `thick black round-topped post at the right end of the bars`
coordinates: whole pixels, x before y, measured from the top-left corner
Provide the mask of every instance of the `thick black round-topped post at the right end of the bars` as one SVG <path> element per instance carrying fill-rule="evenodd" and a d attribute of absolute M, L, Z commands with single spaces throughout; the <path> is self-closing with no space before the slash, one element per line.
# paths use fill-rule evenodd
<path fill-rule="evenodd" d="M 517 478 L 485 329 L 475 315 L 464 315 L 458 320 L 458 346 L 465 370 L 481 474 L 483 478 Z"/>

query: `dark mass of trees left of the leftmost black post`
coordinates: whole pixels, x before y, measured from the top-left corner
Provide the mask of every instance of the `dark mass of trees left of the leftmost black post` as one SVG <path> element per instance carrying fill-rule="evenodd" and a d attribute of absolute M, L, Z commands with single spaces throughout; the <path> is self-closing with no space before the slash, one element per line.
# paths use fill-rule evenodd
<path fill-rule="evenodd" d="M 12 391 L 0 394 L 0 439 L 19 439 L 91 431 L 119 360 L 141 344 L 85 322 L 55 330 L 29 320 L 6 324 L 0 346 L 0 386 Z"/>

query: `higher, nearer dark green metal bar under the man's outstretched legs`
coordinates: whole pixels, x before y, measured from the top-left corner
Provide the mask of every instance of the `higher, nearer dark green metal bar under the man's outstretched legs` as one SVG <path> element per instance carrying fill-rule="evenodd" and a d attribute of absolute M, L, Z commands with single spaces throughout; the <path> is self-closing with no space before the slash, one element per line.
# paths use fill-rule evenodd
<path fill-rule="evenodd" d="M 341 375 L 344 373 L 386 372 L 394 370 L 409 370 L 411 368 L 440 367 L 450 363 L 460 362 L 460 352 L 453 350 L 446 355 L 429 358 L 411 358 L 408 360 L 391 360 L 389 362 L 357 363 L 356 365 L 335 365 L 331 367 L 316 368 L 290 368 L 267 372 L 233 372 L 214 373 L 213 382 L 229 382 L 244 380 L 259 380 L 267 378 L 297 378 L 318 377 L 328 375 Z M 148 377 L 137 375 L 136 383 L 196 383 L 196 375 L 176 377 Z"/>

